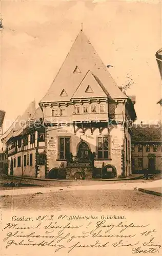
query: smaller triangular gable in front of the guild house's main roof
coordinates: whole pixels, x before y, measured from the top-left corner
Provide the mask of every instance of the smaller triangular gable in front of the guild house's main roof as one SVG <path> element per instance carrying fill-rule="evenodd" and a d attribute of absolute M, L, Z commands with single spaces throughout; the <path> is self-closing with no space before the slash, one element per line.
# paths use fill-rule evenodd
<path fill-rule="evenodd" d="M 90 93 L 90 94 L 89 94 Z M 82 82 L 79 84 L 72 98 L 107 97 L 100 87 L 93 74 L 88 71 Z"/>

